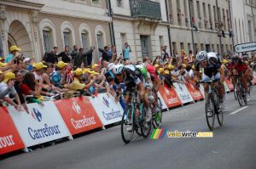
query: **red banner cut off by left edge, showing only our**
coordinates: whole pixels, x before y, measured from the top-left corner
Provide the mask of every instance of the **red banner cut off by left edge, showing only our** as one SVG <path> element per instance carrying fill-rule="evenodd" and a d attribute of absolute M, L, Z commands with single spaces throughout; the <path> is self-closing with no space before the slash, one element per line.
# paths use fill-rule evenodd
<path fill-rule="evenodd" d="M 15 127 L 15 123 L 9 115 L 6 107 L 0 107 L 0 155 L 23 149 L 23 144 L 20 134 Z M 26 113 L 26 112 L 20 112 Z"/>

